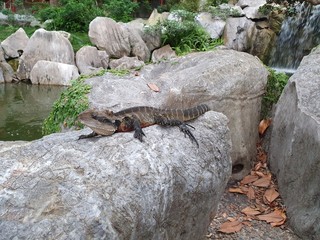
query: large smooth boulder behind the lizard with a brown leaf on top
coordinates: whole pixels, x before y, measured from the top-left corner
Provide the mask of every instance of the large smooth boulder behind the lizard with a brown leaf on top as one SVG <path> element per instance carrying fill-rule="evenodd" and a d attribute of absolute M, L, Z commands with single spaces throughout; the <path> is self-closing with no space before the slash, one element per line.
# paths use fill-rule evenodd
<path fill-rule="evenodd" d="M 136 75 L 106 74 L 87 83 L 92 85 L 90 107 L 98 109 L 117 111 L 139 105 L 185 108 L 206 103 L 224 113 L 230 120 L 233 177 L 241 179 L 256 157 L 267 76 L 258 58 L 233 50 L 215 50 L 150 64 Z M 150 83 L 160 91 L 151 91 Z"/>

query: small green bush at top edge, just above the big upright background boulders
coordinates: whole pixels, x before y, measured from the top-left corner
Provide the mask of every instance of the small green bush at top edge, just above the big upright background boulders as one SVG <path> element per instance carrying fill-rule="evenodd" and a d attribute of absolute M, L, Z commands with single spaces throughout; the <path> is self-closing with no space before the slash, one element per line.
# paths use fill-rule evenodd
<path fill-rule="evenodd" d="M 129 22 L 134 17 L 134 12 L 139 4 L 131 0 L 106 0 L 104 5 L 108 17 L 115 21 Z"/>

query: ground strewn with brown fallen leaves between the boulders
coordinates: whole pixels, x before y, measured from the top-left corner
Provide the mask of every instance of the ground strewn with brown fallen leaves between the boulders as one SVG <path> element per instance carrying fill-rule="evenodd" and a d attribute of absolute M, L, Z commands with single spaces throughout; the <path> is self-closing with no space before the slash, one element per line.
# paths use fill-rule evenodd
<path fill-rule="evenodd" d="M 301 239 L 287 225 L 286 207 L 262 145 L 257 143 L 257 158 L 250 173 L 241 181 L 229 181 L 207 239 Z"/>

